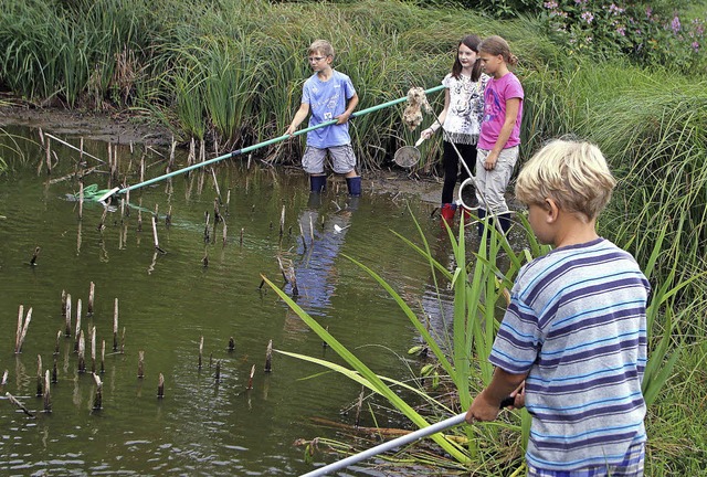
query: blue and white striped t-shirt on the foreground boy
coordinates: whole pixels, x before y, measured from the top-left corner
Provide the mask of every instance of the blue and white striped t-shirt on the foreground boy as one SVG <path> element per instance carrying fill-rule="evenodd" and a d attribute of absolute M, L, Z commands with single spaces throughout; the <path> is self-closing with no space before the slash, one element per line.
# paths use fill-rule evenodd
<path fill-rule="evenodd" d="M 613 243 L 557 248 L 520 269 L 490 362 L 528 373 L 526 458 L 548 470 L 619 465 L 645 442 L 650 284 Z"/>

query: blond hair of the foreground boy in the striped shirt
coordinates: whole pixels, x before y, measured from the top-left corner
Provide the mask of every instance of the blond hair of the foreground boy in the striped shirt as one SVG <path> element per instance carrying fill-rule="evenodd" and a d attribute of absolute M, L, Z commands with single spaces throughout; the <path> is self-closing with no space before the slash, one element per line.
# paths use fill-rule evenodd
<path fill-rule="evenodd" d="M 523 167 L 516 197 L 525 204 L 552 199 L 570 213 L 595 219 L 611 199 L 616 180 L 599 148 L 590 142 L 555 139 Z"/>

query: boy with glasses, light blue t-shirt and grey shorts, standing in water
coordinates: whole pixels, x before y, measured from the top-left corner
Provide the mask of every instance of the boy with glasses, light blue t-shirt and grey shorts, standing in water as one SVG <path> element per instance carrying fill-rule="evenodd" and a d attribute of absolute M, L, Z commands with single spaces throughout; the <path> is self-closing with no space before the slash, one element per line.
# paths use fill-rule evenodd
<path fill-rule="evenodd" d="M 361 178 L 356 172 L 356 156 L 347 123 L 358 105 L 358 95 L 351 78 L 331 67 L 334 47 L 328 41 L 315 41 L 307 54 L 315 74 L 305 82 L 302 104 L 285 134 L 295 132 L 309 112 L 309 127 L 337 119 L 336 125 L 307 132 L 302 167 L 309 173 L 312 192 L 323 192 L 327 183 L 324 163 L 328 152 L 334 172 L 344 174 L 349 194 L 358 197 L 361 194 Z"/>

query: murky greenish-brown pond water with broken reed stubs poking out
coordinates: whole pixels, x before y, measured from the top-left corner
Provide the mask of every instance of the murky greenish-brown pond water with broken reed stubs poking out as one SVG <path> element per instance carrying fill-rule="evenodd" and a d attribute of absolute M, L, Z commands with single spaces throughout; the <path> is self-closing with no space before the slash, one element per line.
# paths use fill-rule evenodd
<path fill-rule="evenodd" d="M 68 200 L 78 191 L 71 174 L 99 162 L 85 158 L 81 166 L 77 152 L 54 144 L 56 156 L 48 176 L 41 166 L 44 151 L 35 144 L 38 131 L 6 131 L 14 137 L 3 137 L 2 157 L 11 170 L 0 177 L 0 372 L 7 369 L 9 375 L 0 399 L 0 473 L 4 475 L 289 476 L 313 469 L 304 460 L 304 447 L 294 445 L 296 439 L 350 439 L 313 417 L 351 425 L 355 413 L 342 411 L 358 399 L 358 385 L 277 353 L 272 372 L 264 372 L 270 340 L 277 350 L 341 362 L 272 289 L 261 286 L 262 274 L 293 294 L 277 257 L 295 271 L 297 303 L 383 375 L 409 378 L 399 357 L 405 357 L 416 336 L 394 301 L 346 256 L 382 275 L 409 303 L 424 306 L 436 324 L 442 322 L 440 304 L 449 307 L 450 297 L 440 301 L 432 288 L 429 265 L 391 232 L 419 242 L 411 211 L 437 257 L 449 262 L 449 245 L 437 241 L 443 235 L 436 220 L 429 218 L 434 203 L 416 197 L 405 200 L 394 191 L 371 193 L 366 180 L 365 194 L 358 200 L 348 198 L 345 184 L 334 181 L 317 200 L 309 195 L 300 172 L 255 163 L 249 168 L 243 159 L 219 165 L 213 174 L 193 171 L 133 191 L 129 215 L 122 215 L 119 206 L 106 212 L 101 204 L 85 203 L 80 219 L 78 202 Z M 63 138 L 78 145 L 77 138 Z M 105 142 L 86 141 L 85 147 L 107 159 Z M 165 171 L 169 151 L 120 146 L 120 174 L 129 184 L 139 182 L 143 156 L 145 177 L 151 178 Z M 183 163 L 186 157 L 178 153 L 177 161 Z M 107 170 L 98 167 L 85 183 L 106 188 Z M 223 224 L 213 226 L 218 192 L 223 202 L 230 192 L 228 206 L 220 206 L 228 227 L 225 241 Z M 154 245 L 155 211 L 165 253 L 156 252 Z M 35 247 L 40 253 L 32 266 Z M 95 304 L 88 315 L 92 283 Z M 63 292 L 72 299 L 68 338 L 63 333 Z M 123 352 L 113 351 L 116 299 Z M 74 352 L 78 300 L 80 329 L 86 336 L 84 373 L 78 372 Z M 22 352 L 15 356 L 21 305 L 25 311 L 32 309 L 32 319 Z M 105 371 L 99 373 L 101 410 L 93 409 L 96 385 L 88 333 L 94 327 L 98 371 L 103 341 L 106 347 Z M 231 337 L 232 351 L 228 349 Z M 138 377 L 140 351 L 143 378 Z M 56 362 L 51 413 L 42 412 L 42 398 L 35 396 L 38 356 L 44 370 Z M 419 368 L 414 360 L 409 364 Z M 163 399 L 157 398 L 160 374 Z M 6 392 L 35 417 L 19 412 L 4 399 Z M 380 404 L 371 402 L 378 425 L 407 424 Z M 362 413 L 361 425 L 374 425 L 370 412 Z M 315 456 L 318 463 L 335 459 L 325 453 Z M 351 475 L 377 474 L 355 469 Z"/>

